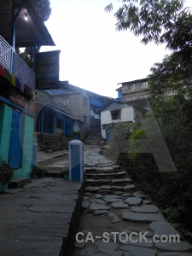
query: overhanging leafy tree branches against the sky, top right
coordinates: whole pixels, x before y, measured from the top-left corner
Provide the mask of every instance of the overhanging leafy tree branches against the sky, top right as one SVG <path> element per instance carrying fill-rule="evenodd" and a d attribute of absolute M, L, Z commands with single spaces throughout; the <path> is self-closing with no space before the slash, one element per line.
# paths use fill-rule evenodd
<path fill-rule="evenodd" d="M 130 29 L 136 36 L 143 36 L 142 43 L 166 43 L 169 49 L 181 49 L 191 44 L 192 16 L 183 8 L 183 0 L 122 0 L 114 14 L 116 29 Z M 113 10 L 110 3 L 105 8 Z M 191 46 L 191 45 L 190 45 Z"/>

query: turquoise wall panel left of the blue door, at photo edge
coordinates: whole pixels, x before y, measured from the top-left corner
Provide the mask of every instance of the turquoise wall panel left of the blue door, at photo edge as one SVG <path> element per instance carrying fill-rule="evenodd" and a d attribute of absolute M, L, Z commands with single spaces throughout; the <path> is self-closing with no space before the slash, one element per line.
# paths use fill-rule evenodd
<path fill-rule="evenodd" d="M 0 106 L 0 155 L 9 161 L 9 141 L 12 120 L 12 108 L 2 104 Z"/>

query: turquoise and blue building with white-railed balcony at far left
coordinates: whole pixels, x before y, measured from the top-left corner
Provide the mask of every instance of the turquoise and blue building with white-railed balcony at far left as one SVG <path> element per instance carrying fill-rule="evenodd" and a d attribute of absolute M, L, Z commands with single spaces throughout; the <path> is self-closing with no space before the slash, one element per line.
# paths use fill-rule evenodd
<path fill-rule="evenodd" d="M 0 156 L 16 177 L 32 171 L 35 73 L 15 52 L 55 45 L 32 1 L 3 0 L 0 8 Z"/>

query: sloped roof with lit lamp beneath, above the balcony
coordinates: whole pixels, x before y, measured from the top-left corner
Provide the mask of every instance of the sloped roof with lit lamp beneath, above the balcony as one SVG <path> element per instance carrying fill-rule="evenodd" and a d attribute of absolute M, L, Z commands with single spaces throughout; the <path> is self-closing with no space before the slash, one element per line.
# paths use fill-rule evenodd
<path fill-rule="evenodd" d="M 47 27 L 33 8 L 32 0 L 1 0 L 0 24 L 3 26 L 0 26 L 0 34 L 9 44 L 11 44 L 12 8 L 14 7 L 20 10 L 15 27 L 15 46 L 55 45 Z"/>

